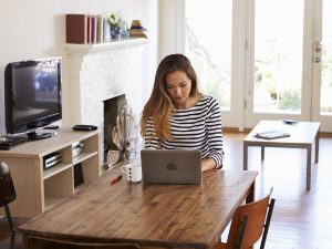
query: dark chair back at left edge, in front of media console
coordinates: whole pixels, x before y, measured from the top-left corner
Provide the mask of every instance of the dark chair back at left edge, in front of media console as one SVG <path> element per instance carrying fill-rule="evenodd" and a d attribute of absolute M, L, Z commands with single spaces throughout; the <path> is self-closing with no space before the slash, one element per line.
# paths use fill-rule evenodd
<path fill-rule="evenodd" d="M 0 162 L 0 207 L 10 204 L 17 198 L 15 188 L 6 163 Z"/>

